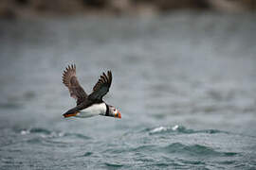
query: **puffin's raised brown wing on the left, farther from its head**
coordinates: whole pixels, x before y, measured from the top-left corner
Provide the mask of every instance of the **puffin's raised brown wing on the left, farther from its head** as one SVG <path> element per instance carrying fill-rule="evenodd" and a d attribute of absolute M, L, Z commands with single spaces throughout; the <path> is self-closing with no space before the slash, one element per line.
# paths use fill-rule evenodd
<path fill-rule="evenodd" d="M 70 96 L 77 100 L 77 105 L 87 98 L 76 76 L 76 65 L 68 65 L 63 74 L 63 83 L 68 88 Z"/>

